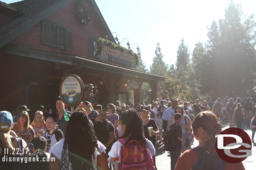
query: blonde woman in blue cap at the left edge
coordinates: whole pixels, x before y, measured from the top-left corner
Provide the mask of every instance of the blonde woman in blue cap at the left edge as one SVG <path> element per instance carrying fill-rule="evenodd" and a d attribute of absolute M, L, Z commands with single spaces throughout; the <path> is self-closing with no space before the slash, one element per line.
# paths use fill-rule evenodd
<path fill-rule="evenodd" d="M 13 117 L 10 112 L 0 112 L 0 167 L 3 170 L 13 170 L 15 162 L 3 161 L 15 157 L 19 150 L 18 138 L 10 135 L 10 129 L 13 127 Z M 22 148 L 25 149 L 26 142 L 22 141 Z M 14 155 L 13 155 L 13 151 Z"/>

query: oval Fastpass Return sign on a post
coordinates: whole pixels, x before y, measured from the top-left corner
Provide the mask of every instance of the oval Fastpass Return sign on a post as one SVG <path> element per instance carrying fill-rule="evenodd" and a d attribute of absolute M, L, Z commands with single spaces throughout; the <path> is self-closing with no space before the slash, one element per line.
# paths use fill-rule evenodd
<path fill-rule="evenodd" d="M 60 83 L 60 98 L 69 107 L 79 104 L 84 97 L 84 82 L 75 75 L 65 76 Z"/>

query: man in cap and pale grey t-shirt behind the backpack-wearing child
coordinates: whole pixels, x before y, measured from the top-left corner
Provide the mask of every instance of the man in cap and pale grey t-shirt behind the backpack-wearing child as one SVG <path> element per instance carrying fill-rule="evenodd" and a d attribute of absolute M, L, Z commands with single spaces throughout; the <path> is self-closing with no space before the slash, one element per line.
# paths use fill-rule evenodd
<path fill-rule="evenodd" d="M 163 129 L 164 131 L 167 131 L 170 127 L 170 125 L 173 123 L 173 117 L 174 117 L 174 109 L 178 105 L 178 99 L 172 98 L 172 107 L 169 107 L 165 110 L 162 119 L 163 119 Z M 171 122 L 172 120 L 172 122 Z"/>

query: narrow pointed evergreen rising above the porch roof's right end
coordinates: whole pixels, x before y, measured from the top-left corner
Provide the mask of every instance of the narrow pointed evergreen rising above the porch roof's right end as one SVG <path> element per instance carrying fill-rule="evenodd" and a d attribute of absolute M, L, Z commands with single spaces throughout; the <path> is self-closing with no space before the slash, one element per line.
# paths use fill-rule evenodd
<path fill-rule="evenodd" d="M 160 44 L 157 43 L 155 57 L 153 58 L 153 63 L 150 66 L 150 73 L 159 75 L 159 76 L 167 76 L 168 64 L 165 64 L 163 61 L 163 55 L 161 53 Z"/>

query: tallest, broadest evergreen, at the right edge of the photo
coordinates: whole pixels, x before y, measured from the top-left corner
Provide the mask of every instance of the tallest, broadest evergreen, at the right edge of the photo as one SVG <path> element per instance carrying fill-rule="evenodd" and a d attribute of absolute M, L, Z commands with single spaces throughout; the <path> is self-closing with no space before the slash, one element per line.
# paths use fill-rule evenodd
<path fill-rule="evenodd" d="M 242 18 L 242 8 L 232 1 L 219 24 L 208 29 L 209 54 L 213 65 L 213 90 L 219 95 L 241 94 L 252 88 L 255 79 L 255 28 L 253 15 Z M 245 84 L 245 82 L 247 82 Z"/>

